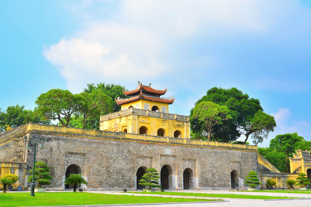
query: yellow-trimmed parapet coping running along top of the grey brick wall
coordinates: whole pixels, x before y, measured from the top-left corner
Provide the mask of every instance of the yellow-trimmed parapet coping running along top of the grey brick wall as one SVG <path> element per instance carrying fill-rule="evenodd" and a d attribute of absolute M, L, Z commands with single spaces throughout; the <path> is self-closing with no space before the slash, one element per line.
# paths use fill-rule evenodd
<path fill-rule="evenodd" d="M 101 138 L 101 139 L 115 139 L 124 140 L 132 142 L 153 142 L 153 143 L 163 143 L 170 145 L 184 145 L 184 146 L 198 146 L 198 147 L 209 147 L 209 148 L 224 148 L 224 149 L 234 149 L 234 150 L 246 150 L 246 151 L 257 151 L 256 145 L 243 145 L 243 144 L 233 144 L 224 142 L 210 142 L 203 140 L 193 140 L 186 138 L 173 138 L 173 137 L 159 137 L 151 136 L 146 134 L 132 134 L 123 132 L 109 132 L 101 131 L 95 129 L 81 129 L 81 128 L 71 128 L 44 124 L 33 124 L 29 123 L 21 126 L 18 130 L 15 130 L 13 134 L 5 133 L 0 135 L 0 145 L 8 142 L 12 137 L 22 136 L 25 133 L 51 133 L 59 134 L 64 136 L 72 137 L 86 137 L 86 138 Z"/>

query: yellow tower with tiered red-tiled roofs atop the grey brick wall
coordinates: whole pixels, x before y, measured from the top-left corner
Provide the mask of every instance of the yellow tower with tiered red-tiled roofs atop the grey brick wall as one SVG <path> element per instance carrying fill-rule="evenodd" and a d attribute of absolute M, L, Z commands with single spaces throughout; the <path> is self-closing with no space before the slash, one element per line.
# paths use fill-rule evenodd
<path fill-rule="evenodd" d="M 121 110 L 100 116 L 100 130 L 161 137 L 189 138 L 189 116 L 169 114 L 169 104 L 174 98 L 162 98 L 165 90 L 138 86 L 132 91 L 123 91 L 127 99 L 116 99 Z"/>

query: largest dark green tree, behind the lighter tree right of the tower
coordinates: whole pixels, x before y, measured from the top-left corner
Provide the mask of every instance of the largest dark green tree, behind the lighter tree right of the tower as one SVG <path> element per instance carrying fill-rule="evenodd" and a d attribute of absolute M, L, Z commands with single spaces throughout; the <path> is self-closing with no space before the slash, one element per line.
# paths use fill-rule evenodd
<path fill-rule="evenodd" d="M 212 101 L 230 109 L 232 119 L 224 120 L 223 124 L 216 124 L 213 127 L 214 139 L 222 142 L 235 141 L 239 138 L 241 134 L 238 129 L 243 129 L 244 122 L 251 120 L 258 110 L 263 111 L 258 99 L 249 98 L 248 94 L 244 94 L 237 88 L 211 88 L 196 102 L 196 105 L 202 101 Z M 192 114 L 193 109 L 190 111 L 190 117 Z M 197 119 L 190 119 L 190 127 L 195 134 L 202 134 L 205 131 L 205 126 Z"/>

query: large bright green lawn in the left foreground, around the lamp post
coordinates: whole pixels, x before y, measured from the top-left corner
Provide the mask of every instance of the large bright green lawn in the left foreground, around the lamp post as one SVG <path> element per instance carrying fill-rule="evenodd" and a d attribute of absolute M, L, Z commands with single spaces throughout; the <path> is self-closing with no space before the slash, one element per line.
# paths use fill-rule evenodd
<path fill-rule="evenodd" d="M 35 193 L 0 193 L 1 207 L 44 206 L 44 205 L 97 205 L 97 204 L 128 204 L 128 203 L 166 203 L 209 201 L 191 198 L 162 198 L 150 196 L 110 195 L 86 192 Z"/>

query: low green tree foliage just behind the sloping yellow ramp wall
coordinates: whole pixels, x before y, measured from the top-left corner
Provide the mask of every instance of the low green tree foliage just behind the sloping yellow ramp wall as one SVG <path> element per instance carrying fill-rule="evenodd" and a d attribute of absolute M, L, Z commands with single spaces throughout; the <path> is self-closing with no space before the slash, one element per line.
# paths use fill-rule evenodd
<path fill-rule="evenodd" d="M 282 151 L 270 147 L 258 147 L 258 152 L 282 173 L 287 172 L 286 155 Z"/>

